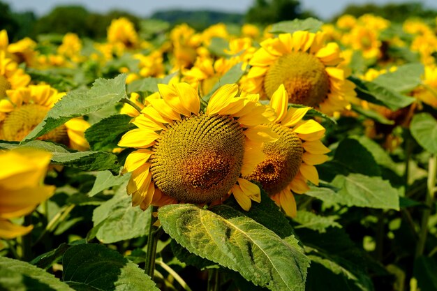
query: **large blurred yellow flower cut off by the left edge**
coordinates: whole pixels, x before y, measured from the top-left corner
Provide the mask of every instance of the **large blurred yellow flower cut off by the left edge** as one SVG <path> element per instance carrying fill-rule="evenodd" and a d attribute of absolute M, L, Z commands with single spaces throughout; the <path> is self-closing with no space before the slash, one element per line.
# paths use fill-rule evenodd
<path fill-rule="evenodd" d="M 13 239 L 30 232 L 32 225 L 10 222 L 53 195 L 54 186 L 42 184 L 51 155 L 34 149 L 0 151 L 0 237 Z"/>

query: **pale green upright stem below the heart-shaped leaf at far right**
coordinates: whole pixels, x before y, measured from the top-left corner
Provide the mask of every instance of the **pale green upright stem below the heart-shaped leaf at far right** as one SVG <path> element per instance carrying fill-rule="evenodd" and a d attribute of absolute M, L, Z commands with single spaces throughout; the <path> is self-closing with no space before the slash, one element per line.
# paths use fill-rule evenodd
<path fill-rule="evenodd" d="M 428 165 L 428 180 L 427 180 L 427 198 L 425 200 L 425 204 L 427 206 L 426 209 L 424 209 L 422 214 L 422 223 L 420 225 L 420 233 L 419 233 L 419 241 L 417 242 L 416 246 L 416 254 L 415 257 L 420 257 L 425 248 L 425 243 L 427 241 L 427 234 L 428 234 L 428 221 L 429 216 L 431 215 L 431 208 L 434 203 L 434 194 L 435 194 L 435 187 L 436 187 L 436 175 L 437 175 L 437 155 L 433 154 L 429 158 L 429 165 Z"/>

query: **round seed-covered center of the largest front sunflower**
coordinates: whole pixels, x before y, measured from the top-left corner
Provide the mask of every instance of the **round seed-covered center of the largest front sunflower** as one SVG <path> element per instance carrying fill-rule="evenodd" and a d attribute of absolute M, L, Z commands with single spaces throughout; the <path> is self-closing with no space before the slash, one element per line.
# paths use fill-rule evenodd
<path fill-rule="evenodd" d="M 212 202 L 237 182 L 244 133 L 228 117 L 198 115 L 168 126 L 153 150 L 151 174 L 163 193 L 183 202 Z"/>

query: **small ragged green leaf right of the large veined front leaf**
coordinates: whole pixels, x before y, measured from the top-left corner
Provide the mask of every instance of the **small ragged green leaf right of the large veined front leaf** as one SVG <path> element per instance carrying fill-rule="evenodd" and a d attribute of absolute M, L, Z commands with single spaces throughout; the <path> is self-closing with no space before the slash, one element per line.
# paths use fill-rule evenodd
<path fill-rule="evenodd" d="M 306 227 L 310 230 L 324 233 L 328 227 L 341 228 L 341 224 L 335 221 L 337 218 L 337 216 L 320 216 L 313 212 L 298 210 L 297 216 L 293 218 L 293 221 L 300 224 L 295 226 L 295 228 Z"/>

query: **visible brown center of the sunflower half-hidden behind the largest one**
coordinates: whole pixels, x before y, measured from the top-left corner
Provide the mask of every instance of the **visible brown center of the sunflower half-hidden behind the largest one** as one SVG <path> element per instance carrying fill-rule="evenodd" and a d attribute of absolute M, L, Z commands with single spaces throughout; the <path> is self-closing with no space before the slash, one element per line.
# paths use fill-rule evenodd
<path fill-rule="evenodd" d="M 282 191 L 295 178 L 302 164 L 302 142 L 296 133 L 281 124 L 269 124 L 279 140 L 268 142 L 262 148 L 265 159 L 247 177 L 258 181 L 262 188 L 274 195 Z"/>

